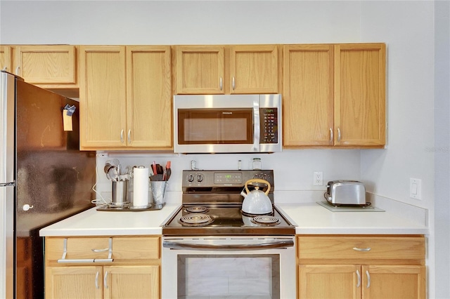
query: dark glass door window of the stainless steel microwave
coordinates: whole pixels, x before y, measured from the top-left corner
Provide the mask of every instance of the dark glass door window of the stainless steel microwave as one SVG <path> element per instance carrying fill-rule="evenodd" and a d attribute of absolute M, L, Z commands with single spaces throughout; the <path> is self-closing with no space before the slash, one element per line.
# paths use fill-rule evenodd
<path fill-rule="evenodd" d="M 179 109 L 180 145 L 252 144 L 253 109 Z"/>

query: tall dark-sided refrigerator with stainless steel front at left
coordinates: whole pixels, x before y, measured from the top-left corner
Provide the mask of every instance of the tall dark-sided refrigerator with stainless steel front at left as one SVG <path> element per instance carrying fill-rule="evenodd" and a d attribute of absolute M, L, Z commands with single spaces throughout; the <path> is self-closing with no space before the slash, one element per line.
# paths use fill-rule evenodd
<path fill-rule="evenodd" d="M 95 167 L 79 151 L 78 102 L 1 71 L 0 298 L 44 298 L 39 230 L 93 207 Z"/>

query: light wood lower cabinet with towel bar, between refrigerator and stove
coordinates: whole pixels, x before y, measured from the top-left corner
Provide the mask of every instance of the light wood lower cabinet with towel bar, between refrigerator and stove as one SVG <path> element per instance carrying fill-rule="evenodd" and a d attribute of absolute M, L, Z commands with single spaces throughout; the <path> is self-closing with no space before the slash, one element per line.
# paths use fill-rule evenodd
<path fill-rule="evenodd" d="M 160 237 L 46 238 L 46 298 L 160 298 Z"/>

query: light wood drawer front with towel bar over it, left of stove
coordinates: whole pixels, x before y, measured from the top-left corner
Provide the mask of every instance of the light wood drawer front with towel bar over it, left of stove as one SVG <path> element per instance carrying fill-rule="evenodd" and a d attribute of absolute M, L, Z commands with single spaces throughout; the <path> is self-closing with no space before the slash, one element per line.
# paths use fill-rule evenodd
<path fill-rule="evenodd" d="M 120 260 L 152 260 L 160 258 L 160 237 L 48 237 L 46 238 L 46 260 L 63 258 L 64 242 L 66 260 L 108 258 L 110 239 L 111 258 Z"/>

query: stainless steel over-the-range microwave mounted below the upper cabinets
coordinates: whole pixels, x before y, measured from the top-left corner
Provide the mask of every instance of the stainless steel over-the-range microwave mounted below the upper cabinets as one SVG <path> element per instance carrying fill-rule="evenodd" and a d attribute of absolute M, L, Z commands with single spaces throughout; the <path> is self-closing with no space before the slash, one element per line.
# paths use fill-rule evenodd
<path fill-rule="evenodd" d="M 281 95 L 174 95 L 174 152 L 281 152 Z"/>

